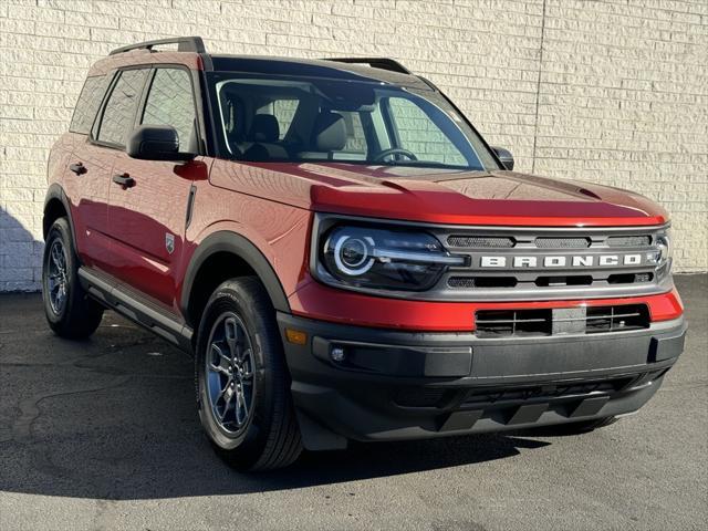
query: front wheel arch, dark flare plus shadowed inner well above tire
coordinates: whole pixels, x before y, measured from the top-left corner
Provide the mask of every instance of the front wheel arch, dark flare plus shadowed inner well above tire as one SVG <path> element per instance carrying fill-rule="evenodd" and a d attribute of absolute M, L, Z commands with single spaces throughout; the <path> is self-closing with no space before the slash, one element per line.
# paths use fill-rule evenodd
<path fill-rule="evenodd" d="M 246 237 L 219 230 L 204 239 L 187 267 L 179 299 L 187 323 L 192 327 L 199 324 L 201 310 L 217 285 L 247 274 L 260 279 L 275 310 L 290 313 L 288 295 L 268 258 Z"/>

